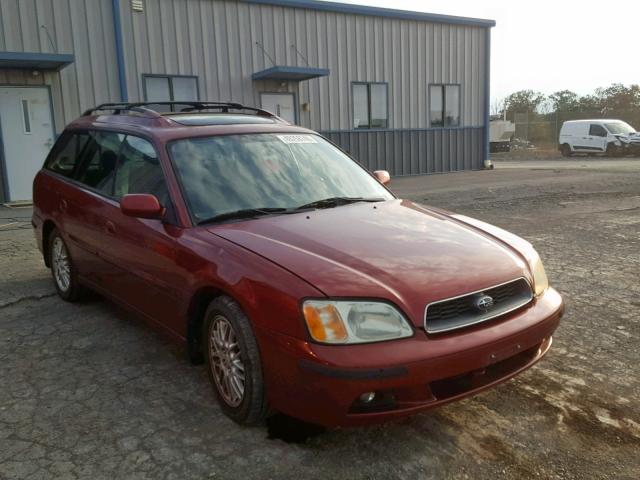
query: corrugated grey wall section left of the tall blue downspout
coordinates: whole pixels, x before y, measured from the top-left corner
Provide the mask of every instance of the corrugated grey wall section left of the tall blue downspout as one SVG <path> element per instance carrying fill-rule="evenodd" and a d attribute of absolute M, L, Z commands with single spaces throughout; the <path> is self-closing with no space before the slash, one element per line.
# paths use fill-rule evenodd
<path fill-rule="evenodd" d="M 43 82 L 52 87 L 58 131 L 84 109 L 119 100 L 110 1 L 0 0 L 0 51 L 75 56 L 59 73 L 41 72 Z M 25 76 L 31 72 L 0 71 L 0 82 L 30 84 L 22 82 Z"/>

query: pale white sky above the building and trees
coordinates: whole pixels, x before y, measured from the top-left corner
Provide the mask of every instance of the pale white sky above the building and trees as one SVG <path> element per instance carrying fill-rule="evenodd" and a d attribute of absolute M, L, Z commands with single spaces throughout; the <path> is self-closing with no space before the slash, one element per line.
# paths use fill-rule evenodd
<path fill-rule="evenodd" d="M 339 1 L 339 0 L 338 0 Z M 491 98 L 640 83 L 640 0 L 342 0 L 496 21 Z"/>

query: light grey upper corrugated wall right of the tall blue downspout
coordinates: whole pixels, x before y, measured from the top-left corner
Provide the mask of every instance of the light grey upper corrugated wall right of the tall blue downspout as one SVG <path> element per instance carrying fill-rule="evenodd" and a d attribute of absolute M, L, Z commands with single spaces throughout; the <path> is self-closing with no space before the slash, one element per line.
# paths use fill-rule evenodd
<path fill-rule="evenodd" d="M 147 0 L 144 13 L 122 2 L 121 14 L 132 100 L 142 98 L 142 74 L 172 73 L 197 75 L 203 99 L 258 105 L 260 91 L 279 88 L 251 80 L 273 66 L 262 47 L 278 65 L 306 58 L 331 71 L 299 86 L 298 103 L 310 104 L 300 123 L 314 130 L 352 128 L 353 81 L 388 83 L 390 128 L 429 126 L 430 83 L 461 84 L 462 125 L 484 123 L 481 27 L 227 0 Z"/>

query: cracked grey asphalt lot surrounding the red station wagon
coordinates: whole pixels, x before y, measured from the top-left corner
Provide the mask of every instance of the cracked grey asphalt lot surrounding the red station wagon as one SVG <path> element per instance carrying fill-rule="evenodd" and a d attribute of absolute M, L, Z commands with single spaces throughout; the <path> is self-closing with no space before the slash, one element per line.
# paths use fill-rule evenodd
<path fill-rule="evenodd" d="M 640 160 L 495 163 L 392 187 L 535 245 L 567 303 L 547 358 L 471 399 L 301 443 L 286 419 L 227 420 L 204 367 L 129 312 L 59 300 L 30 210 L 0 209 L 0 478 L 637 480 Z"/>

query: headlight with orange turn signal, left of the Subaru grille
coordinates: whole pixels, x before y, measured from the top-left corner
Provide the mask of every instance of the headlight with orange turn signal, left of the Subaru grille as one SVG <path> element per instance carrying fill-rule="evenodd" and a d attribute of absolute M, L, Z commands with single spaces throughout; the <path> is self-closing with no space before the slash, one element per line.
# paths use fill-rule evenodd
<path fill-rule="evenodd" d="M 302 310 L 311 337 L 321 343 L 381 342 L 413 335 L 404 316 L 383 302 L 307 300 Z"/>

